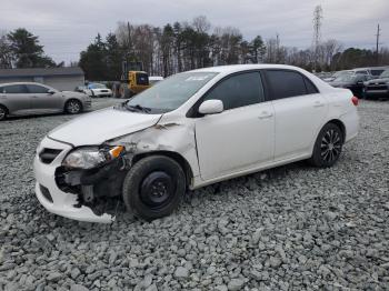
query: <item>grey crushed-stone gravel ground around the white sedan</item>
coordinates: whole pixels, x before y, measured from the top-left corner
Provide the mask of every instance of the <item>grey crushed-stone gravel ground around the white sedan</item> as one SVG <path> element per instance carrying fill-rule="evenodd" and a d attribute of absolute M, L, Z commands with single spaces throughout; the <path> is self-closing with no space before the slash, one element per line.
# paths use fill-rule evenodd
<path fill-rule="evenodd" d="M 34 198 L 34 149 L 73 117 L 1 122 L 0 290 L 389 290 L 389 102 L 359 111 L 331 169 L 280 167 L 190 192 L 151 223 L 120 209 L 111 225 Z"/>

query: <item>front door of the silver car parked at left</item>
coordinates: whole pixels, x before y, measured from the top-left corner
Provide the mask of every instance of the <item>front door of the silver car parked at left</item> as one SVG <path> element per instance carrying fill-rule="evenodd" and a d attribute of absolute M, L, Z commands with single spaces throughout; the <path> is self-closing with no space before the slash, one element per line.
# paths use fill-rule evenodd
<path fill-rule="evenodd" d="M 31 99 L 31 111 L 56 112 L 61 108 L 61 97 L 51 88 L 40 84 L 26 84 Z"/>

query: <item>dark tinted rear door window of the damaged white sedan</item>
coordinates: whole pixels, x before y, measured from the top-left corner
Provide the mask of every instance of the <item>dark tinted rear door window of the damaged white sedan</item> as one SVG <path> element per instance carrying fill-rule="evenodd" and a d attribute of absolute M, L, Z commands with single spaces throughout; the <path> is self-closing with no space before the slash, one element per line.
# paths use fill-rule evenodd
<path fill-rule="evenodd" d="M 272 99 L 308 94 L 309 90 L 300 73 L 283 70 L 268 70 L 266 73 Z"/>

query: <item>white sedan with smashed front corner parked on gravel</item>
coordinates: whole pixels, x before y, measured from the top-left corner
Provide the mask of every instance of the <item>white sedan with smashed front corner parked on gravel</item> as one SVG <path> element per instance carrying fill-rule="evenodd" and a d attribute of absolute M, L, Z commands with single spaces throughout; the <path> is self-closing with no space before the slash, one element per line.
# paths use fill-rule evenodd
<path fill-rule="evenodd" d="M 305 159 L 332 165 L 358 133 L 357 104 L 349 90 L 296 67 L 179 73 L 51 131 L 34 159 L 37 197 L 81 221 L 113 221 L 104 208 L 112 197 L 160 218 L 187 189 Z"/>

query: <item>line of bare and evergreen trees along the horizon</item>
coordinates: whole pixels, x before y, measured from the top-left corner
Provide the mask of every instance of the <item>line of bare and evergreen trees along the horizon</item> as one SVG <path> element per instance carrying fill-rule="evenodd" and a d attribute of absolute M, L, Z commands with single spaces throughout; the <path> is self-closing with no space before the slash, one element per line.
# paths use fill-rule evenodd
<path fill-rule="evenodd" d="M 280 37 L 243 38 L 233 27 L 213 27 L 206 17 L 163 27 L 119 22 L 113 32 L 96 39 L 78 62 L 87 80 L 119 80 L 122 61 L 141 62 L 151 76 L 170 76 L 197 68 L 236 63 L 286 63 L 309 71 L 337 71 L 389 64 L 389 50 L 347 48 L 335 39 L 317 48 L 282 44 Z M 63 66 L 44 54 L 39 38 L 26 29 L 0 36 L 0 68 L 49 68 Z"/>

